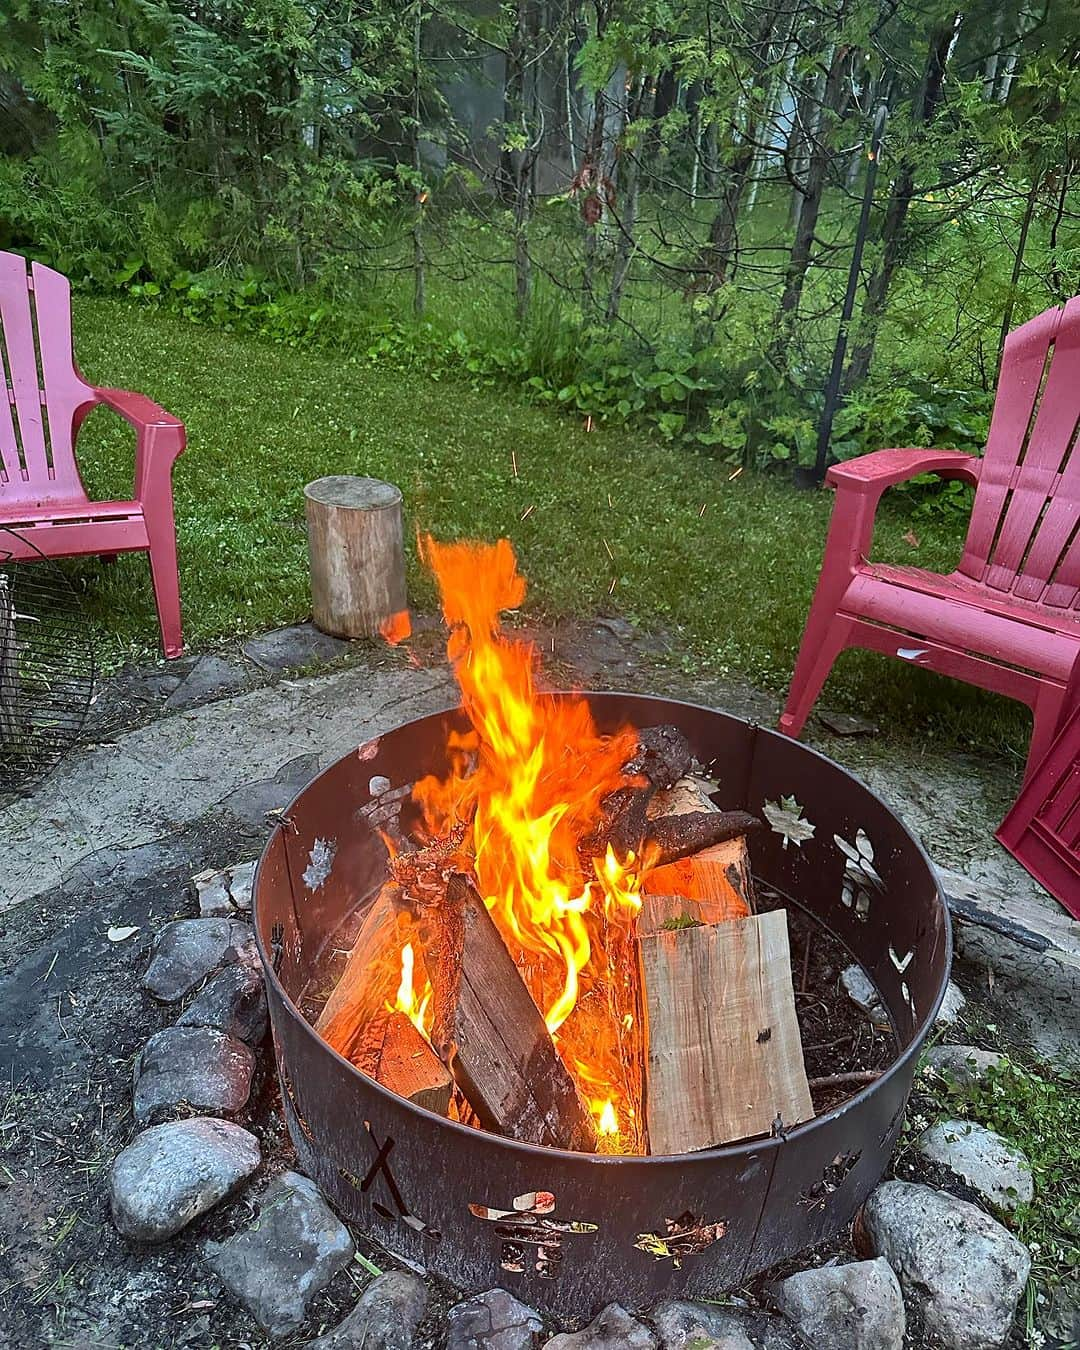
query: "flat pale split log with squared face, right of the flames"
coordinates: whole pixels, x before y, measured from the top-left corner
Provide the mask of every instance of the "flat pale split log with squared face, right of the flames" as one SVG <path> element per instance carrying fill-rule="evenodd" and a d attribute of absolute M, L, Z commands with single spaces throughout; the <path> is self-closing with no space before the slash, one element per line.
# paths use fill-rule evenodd
<path fill-rule="evenodd" d="M 783 910 L 647 933 L 639 954 L 651 1153 L 813 1116 Z"/>

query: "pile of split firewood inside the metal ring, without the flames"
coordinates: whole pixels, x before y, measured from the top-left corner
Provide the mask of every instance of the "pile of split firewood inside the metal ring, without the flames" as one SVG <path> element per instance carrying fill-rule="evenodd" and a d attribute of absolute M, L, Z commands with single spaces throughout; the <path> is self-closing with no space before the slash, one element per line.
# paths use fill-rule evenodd
<path fill-rule="evenodd" d="M 756 914 L 747 848 L 759 822 L 718 810 L 675 728 L 640 733 L 628 786 L 580 840 L 583 861 L 647 860 L 618 965 L 622 1084 L 636 1118 L 620 1152 L 684 1153 L 813 1115 L 787 918 Z M 466 832 L 393 859 L 317 1030 L 362 1072 L 443 1115 L 531 1143 L 594 1152 L 598 1122 L 468 871 Z M 613 944 L 617 937 L 612 936 Z M 393 1011 L 408 944 L 431 983 L 427 1023 Z M 427 1026 L 427 1033 L 418 1030 Z"/>

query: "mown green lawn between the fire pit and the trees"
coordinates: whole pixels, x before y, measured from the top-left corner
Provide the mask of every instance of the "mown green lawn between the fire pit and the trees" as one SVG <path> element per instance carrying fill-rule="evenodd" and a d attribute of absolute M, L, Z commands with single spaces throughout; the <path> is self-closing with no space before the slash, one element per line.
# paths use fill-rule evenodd
<path fill-rule="evenodd" d="M 691 671 L 783 688 L 798 649 L 829 518 L 828 493 L 798 493 L 670 448 L 647 433 L 594 431 L 514 394 L 436 382 L 200 328 L 154 309 L 81 298 L 76 344 L 97 383 L 138 389 L 188 425 L 177 463 L 185 636 L 193 647 L 308 613 L 302 487 L 371 474 L 405 493 L 410 522 L 444 537 L 514 543 L 540 616 L 617 609 L 679 637 Z M 128 494 L 132 437 L 111 413 L 86 423 L 80 459 L 94 494 Z M 516 468 L 516 471 L 514 471 Z M 882 556 L 948 567 L 952 524 L 886 506 Z M 146 560 L 74 572 L 111 663 L 154 651 Z M 614 582 L 614 590 L 612 585 Z M 410 551 L 414 601 L 431 586 Z M 1022 711 L 896 662 L 846 653 L 826 687 L 913 737 L 1022 753 Z"/>

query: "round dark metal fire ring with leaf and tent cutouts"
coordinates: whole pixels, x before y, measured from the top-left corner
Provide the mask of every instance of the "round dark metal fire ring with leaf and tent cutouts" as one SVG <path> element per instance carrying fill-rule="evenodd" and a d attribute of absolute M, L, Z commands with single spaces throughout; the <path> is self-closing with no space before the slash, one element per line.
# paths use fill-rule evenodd
<path fill-rule="evenodd" d="M 749 837 L 760 894 L 815 925 L 822 942 L 842 945 L 895 1031 L 892 1062 L 849 1099 L 802 1125 L 780 1119 L 771 1137 L 670 1157 L 605 1156 L 447 1119 L 331 1049 L 309 1021 L 312 988 L 386 880 L 383 830 L 400 819 L 408 833 L 413 784 L 450 774 L 447 747 L 467 729 L 460 711 L 400 726 L 319 775 L 274 830 L 254 895 L 282 1099 L 304 1170 L 404 1261 L 467 1289 L 502 1285 L 564 1316 L 612 1299 L 714 1296 L 836 1234 L 895 1146 L 952 949 L 926 855 L 838 765 L 709 709 L 586 698 L 603 733 L 678 728 L 717 799 L 768 821 Z"/>

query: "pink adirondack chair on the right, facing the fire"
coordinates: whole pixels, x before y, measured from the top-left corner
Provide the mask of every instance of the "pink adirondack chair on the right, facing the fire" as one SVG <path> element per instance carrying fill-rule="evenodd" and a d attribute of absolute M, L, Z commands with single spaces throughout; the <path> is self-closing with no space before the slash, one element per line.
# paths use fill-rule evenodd
<path fill-rule="evenodd" d="M 833 662 L 865 647 L 1030 706 L 1027 765 L 1053 741 L 1080 655 L 1080 297 L 1010 333 L 981 458 L 879 450 L 833 466 L 825 559 L 780 730 L 798 736 Z M 975 485 L 960 566 L 869 562 L 887 487 L 934 473 Z"/>

